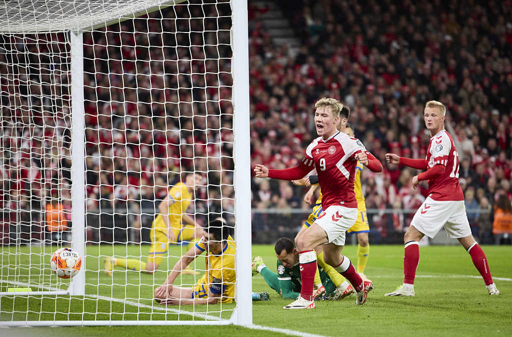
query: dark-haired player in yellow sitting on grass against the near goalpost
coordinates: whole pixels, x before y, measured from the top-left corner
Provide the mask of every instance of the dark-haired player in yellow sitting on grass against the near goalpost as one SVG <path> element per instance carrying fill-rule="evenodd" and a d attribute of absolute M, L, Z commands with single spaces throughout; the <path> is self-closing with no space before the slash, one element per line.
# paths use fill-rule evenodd
<path fill-rule="evenodd" d="M 204 251 L 206 271 L 196 285 L 187 288 L 173 285 L 182 270 Z M 167 305 L 231 303 L 237 281 L 234 252 L 234 240 L 228 234 L 228 227 L 220 220 L 211 221 L 202 239 L 181 257 L 165 282 L 155 289 L 155 301 Z"/>

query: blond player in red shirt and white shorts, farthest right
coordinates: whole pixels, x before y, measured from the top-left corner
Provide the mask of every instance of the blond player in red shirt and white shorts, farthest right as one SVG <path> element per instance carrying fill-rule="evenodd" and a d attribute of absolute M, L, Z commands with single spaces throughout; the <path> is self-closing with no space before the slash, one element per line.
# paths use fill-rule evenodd
<path fill-rule="evenodd" d="M 392 153 L 386 154 L 386 160 L 390 163 L 426 170 L 413 178 L 414 188 L 422 180 L 429 181 L 429 196 L 417 210 L 403 239 L 405 243 L 403 284 L 386 296 L 414 296 L 414 277 L 419 262 L 418 241 L 424 235 L 433 238 L 443 226 L 447 235 L 458 239 L 471 255 L 473 264 L 482 275 L 489 294 L 500 294 L 490 275 L 487 258 L 471 235 L 464 206 L 464 194 L 459 185 L 457 149 L 452 136 L 444 130 L 445 112 L 446 108 L 441 102 L 431 100 L 425 104 L 425 125 L 431 135 L 426 159 L 410 159 Z"/>

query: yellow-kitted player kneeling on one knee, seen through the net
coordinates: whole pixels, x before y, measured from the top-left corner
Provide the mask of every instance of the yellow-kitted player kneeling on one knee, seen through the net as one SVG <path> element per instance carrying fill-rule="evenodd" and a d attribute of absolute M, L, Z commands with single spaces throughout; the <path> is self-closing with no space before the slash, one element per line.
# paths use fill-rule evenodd
<path fill-rule="evenodd" d="M 194 246 L 196 238 L 202 236 L 203 228 L 185 212 L 193 200 L 192 192 L 199 187 L 201 180 L 200 174 L 189 173 L 185 176 L 185 183 L 179 182 L 169 189 L 167 196 L 158 206 L 160 213 L 151 226 L 151 248 L 147 263 L 137 259 L 106 258 L 106 275 L 111 276 L 115 267 L 153 273 L 160 266 L 163 256 L 167 254 L 169 244 L 189 241 L 188 248 Z M 184 273 L 194 273 L 194 270 L 188 269 Z"/>

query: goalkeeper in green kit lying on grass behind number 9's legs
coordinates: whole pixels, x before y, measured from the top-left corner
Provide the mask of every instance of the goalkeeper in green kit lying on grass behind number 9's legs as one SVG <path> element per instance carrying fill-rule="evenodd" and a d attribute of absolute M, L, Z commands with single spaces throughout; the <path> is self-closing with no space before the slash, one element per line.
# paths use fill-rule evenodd
<path fill-rule="evenodd" d="M 289 238 L 279 239 L 275 243 L 274 249 L 275 255 L 278 258 L 278 273 L 270 270 L 263 263 L 263 259 L 260 256 L 256 256 L 252 259 L 252 275 L 254 276 L 257 273 L 261 273 L 268 286 L 278 292 L 283 297 L 283 299 L 296 299 L 298 296 L 300 296 L 302 284 L 301 271 L 298 263 L 298 250 L 295 247 L 293 241 Z M 332 268 L 331 266 L 329 267 Z M 325 287 L 324 293 L 327 293 L 331 299 L 341 300 L 354 292 L 352 287 L 350 287 L 350 292 L 345 294 L 342 292 L 343 296 L 341 296 L 342 294 L 336 296 L 336 285 L 329 277 L 330 275 L 328 275 L 327 272 L 320 266 L 317 268 L 317 270 L 319 273 L 319 278 L 321 279 L 321 284 L 323 287 Z M 336 270 L 334 271 L 336 272 Z M 337 272 L 336 276 L 342 278 L 342 276 L 340 276 Z M 322 296 L 322 293 L 317 292 L 313 295 L 313 300 L 320 296 Z"/>

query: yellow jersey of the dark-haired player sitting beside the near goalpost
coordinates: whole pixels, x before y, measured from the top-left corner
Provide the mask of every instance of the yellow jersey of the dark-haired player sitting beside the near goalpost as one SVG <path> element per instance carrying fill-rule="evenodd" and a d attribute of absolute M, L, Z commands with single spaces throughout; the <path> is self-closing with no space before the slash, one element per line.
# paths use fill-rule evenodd
<path fill-rule="evenodd" d="M 201 251 L 206 250 L 203 241 L 196 243 L 196 247 Z M 226 241 L 226 247 L 220 255 L 214 255 L 207 252 L 205 256 L 206 272 L 199 279 L 194 287 L 195 292 L 198 289 L 197 297 L 203 297 L 202 292 L 222 294 L 222 303 L 231 303 L 234 298 L 234 284 L 237 281 L 237 275 L 234 272 L 234 252 L 236 246 L 233 238 L 229 235 Z M 203 290 L 203 291 L 201 291 Z M 196 294 L 195 294 L 196 296 Z"/>

